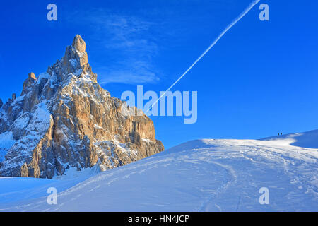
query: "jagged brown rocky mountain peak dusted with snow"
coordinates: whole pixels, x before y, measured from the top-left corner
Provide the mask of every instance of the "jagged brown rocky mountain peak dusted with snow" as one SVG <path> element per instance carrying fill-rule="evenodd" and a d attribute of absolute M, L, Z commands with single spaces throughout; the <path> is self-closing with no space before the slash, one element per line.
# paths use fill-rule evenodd
<path fill-rule="evenodd" d="M 79 35 L 46 73 L 29 73 L 20 97 L 1 105 L 0 177 L 52 178 L 70 167 L 103 171 L 164 149 L 151 119 L 125 116 L 124 102 L 98 85 Z"/>

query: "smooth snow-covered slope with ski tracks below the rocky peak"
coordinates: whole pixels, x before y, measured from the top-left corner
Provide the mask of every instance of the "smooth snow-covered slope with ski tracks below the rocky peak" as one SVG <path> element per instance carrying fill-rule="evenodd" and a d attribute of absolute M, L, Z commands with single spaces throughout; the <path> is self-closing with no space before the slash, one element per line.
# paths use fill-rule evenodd
<path fill-rule="evenodd" d="M 20 178 L 0 179 L 0 210 L 318 211 L 317 141 L 318 131 L 264 140 L 204 139 L 88 179 L 44 185 L 28 179 L 33 188 Z M 23 188 L 15 191 L 25 194 L 20 201 L 3 189 L 12 184 Z M 57 205 L 47 204 L 49 186 L 59 191 Z M 269 189 L 269 205 L 259 203 L 261 187 Z"/>

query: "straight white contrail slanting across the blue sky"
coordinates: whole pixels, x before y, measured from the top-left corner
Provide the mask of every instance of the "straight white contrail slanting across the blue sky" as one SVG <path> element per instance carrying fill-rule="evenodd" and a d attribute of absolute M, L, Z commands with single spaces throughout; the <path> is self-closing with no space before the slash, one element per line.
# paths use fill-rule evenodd
<path fill-rule="evenodd" d="M 225 28 L 225 30 L 223 30 L 222 33 L 220 33 L 220 35 L 218 35 L 218 37 L 216 38 L 216 40 L 214 40 L 214 42 L 212 42 L 212 44 L 208 47 L 208 49 L 206 49 L 206 51 L 204 51 L 203 54 L 201 54 L 201 56 L 196 59 L 196 61 L 194 61 L 194 63 L 189 67 L 189 69 L 187 69 L 187 71 L 184 71 L 184 73 L 182 74 L 182 76 L 180 76 L 177 81 L 175 81 L 175 83 L 173 83 L 170 88 L 168 88 L 167 90 L 165 90 L 165 93 L 167 93 L 167 91 L 169 91 L 173 86 L 175 86 L 175 84 L 177 84 L 177 82 L 180 81 L 180 79 L 185 76 L 193 67 L 194 65 L 196 65 L 196 63 L 199 62 L 199 60 L 204 57 L 204 55 L 218 42 L 218 40 L 220 40 L 221 37 L 223 37 L 223 35 L 225 35 L 226 32 L 228 32 L 228 30 L 230 30 L 230 28 L 232 28 L 232 26 L 234 26 L 237 22 L 239 22 L 256 4 L 259 3 L 260 0 L 255 0 L 253 1 L 251 4 L 249 4 L 249 6 L 247 8 L 245 8 L 245 10 L 240 14 L 240 16 L 238 16 L 235 20 L 232 21 L 232 23 L 230 23 L 230 25 L 228 25 L 228 27 Z M 164 95 L 165 93 L 163 93 L 163 95 L 161 95 L 159 97 L 158 100 L 156 100 L 153 105 L 151 105 L 151 107 L 153 107 Z M 149 109 L 147 110 L 147 112 L 151 109 L 151 107 L 149 107 Z M 145 112 L 145 114 L 147 113 Z"/>

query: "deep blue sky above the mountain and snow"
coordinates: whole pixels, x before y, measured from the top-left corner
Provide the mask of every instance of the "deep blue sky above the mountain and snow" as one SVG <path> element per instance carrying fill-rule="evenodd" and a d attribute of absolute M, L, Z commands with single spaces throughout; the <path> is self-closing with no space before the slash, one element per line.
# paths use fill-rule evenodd
<path fill-rule="evenodd" d="M 252 0 L 251 0 L 252 1 Z M 250 0 L 16 1 L 2 3 L 0 98 L 86 41 L 103 88 L 166 90 Z M 58 20 L 47 20 L 47 4 Z M 151 117 L 166 148 L 196 138 L 263 138 L 318 129 L 317 1 L 260 1 L 172 89 L 198 91 L 198 120 Z"/>

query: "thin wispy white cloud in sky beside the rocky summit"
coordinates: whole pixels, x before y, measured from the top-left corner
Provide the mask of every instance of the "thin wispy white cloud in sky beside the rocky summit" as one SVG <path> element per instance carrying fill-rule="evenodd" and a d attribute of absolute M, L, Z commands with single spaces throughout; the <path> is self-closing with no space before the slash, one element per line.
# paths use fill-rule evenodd
<path fill-rule="evenodd" d="M 89 25 L 91 37 L 105 49 L 105 58 L 110 61 L 94 67 L 102 85 L 160 81 L 158 70 L 152 63 L 153 56 L 158 53 L 158 44 L 149 32 L 155 26 L 154 22 L 96 8 L 84 14 L 81 21 L 73 20 L 76 18 L 73 16 L 69 20 Z"/>

